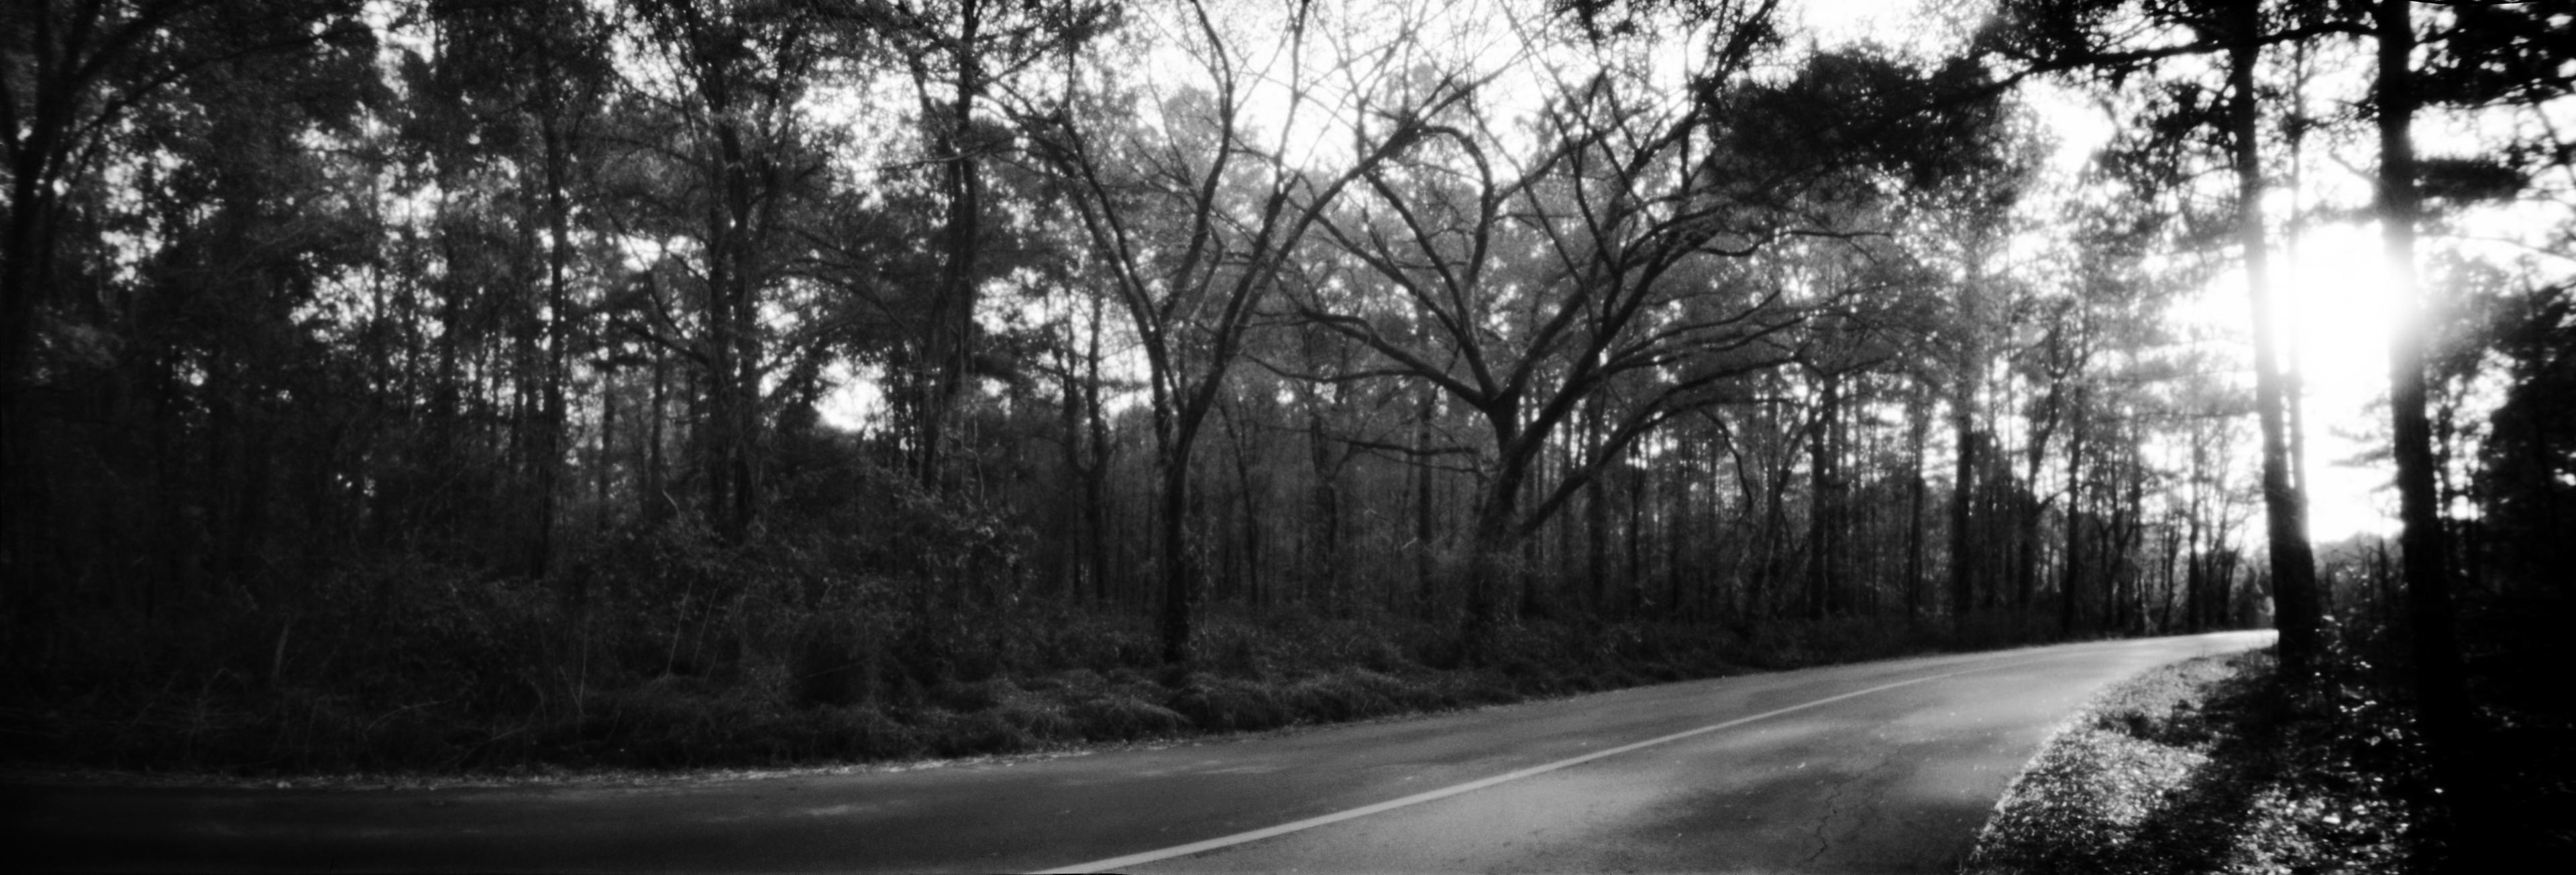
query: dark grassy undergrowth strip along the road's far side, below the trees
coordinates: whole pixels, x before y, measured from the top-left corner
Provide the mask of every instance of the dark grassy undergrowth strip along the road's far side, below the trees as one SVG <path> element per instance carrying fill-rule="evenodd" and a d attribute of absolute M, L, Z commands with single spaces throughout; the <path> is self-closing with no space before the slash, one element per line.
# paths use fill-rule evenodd
<path fill-rule="evenodd" d="M 634 540 L 554 584 L 355 569 L 64 615 L 5 679 L 21 772 L 562 775 L 945 759 L 1267 731 L 2038 641 L 2040 618 L 1492 625 L 1218 605 L 1170 674 L 1144 610 L 832 574 L 788 546 Z M 927 620 L 925 620 L 927 618 Z M 103 775 L 100 775 L 103 772 Z"/>

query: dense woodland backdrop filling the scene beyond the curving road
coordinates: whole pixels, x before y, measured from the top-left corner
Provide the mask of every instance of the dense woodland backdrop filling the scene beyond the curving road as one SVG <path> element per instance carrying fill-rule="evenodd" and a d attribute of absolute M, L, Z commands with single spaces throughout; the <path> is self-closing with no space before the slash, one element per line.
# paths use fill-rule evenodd
<path fill-rule="evenodd" d="M 2264 623 L 2458 703 L 2455 615 L 2563 605 L 2568 3 L 1798 21 L 8 0 L 10 746 L 953 754 Z M 2406 525 L 2311 551 L 2257 327 L 2372 221 Z"/>

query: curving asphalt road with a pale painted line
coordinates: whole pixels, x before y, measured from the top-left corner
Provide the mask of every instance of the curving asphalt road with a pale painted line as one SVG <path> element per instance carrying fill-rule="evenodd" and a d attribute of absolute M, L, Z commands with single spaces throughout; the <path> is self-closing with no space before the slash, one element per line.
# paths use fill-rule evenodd
<path fill-rule="evenodd" d="M 1947 872 L 2084 697 L 2262 643 L 2269 633 L 1899 659 L 855 775 L 10 785 L 0 818 L 8 857 L 77 870 Z"/>

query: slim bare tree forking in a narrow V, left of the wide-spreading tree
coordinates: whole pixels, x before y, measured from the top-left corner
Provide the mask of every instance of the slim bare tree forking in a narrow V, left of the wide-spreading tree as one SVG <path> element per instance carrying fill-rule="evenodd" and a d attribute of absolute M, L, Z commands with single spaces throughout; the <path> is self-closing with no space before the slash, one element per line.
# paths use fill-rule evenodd
<path fill-rule="evenodd" d="M 1391 106 L 1376 103 L 1378 82 L 1368 75 L 1412 36 L 1406 23 L 1342 46 L 1319 69 L 1309 57 L 1319 28 L 1314 5 L 1262 21 L 1267 33 L 1255 31 L 1260 36 L 1221 28 L 1195 0 L 1172 15 L 1170 26 L 1188 33 L 1195 82 L 1172 93 L 1084 93 L 1077 85 L 1066 106 L 1041 118 L 1041 136 L 1046 157 L 1069 178 L 1082 232 L 1144 347 L 1159 479 L 1162 651 L 1185 672 L 1203 571 L 1190 533 L 1190 456 L 1224 399 L 1252 317 L 1342 190 L 1419 139 L 1419 118 L 1473 88 L 1435 82 Z M 1262 51 L 1257 39 L 1285 44 Z M 1324 77 L 1334 75 L 1350 82 L 1324 93 Z M 1285 82 L 1280 131 L 1260 131 L 1252 121 L 1247 103 L 1262 82 Z M 1159 131 L 1131 124 L 1144 113 Z M 1342 167 L 1316 172 L 1288 157 L 1291 142 L 1306 136 L 1301 118 L 1309 113 L 1388 121 L 1383 134 L 1360 129 L 1360 147 Z"/>

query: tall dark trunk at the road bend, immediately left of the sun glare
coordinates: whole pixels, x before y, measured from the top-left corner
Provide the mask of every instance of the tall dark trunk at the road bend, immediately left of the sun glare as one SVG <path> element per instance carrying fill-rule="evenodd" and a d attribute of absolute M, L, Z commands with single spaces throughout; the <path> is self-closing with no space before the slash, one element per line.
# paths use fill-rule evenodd
<path fill-rule="evenodd" d="M 2246 296 L 2254 306 L 2254 407 L 2262 419 L 2264 540 L 2272 561 L 2272 610 L 2280 625 L 2280 667 L 2306 682 L 2318 649 L 2316 556 L 2308 546 L 2308 510 L 2290 481 L 2290 435 L 2272 319 L 2272 257 L 2262 219 L 2262 124 L 2254 106 L 2254 64 L 2262 57 L 2259 0 L 2228 8 L 2228 134 L 2236 162 L 2236 242 L 2244 247 Z"/>

